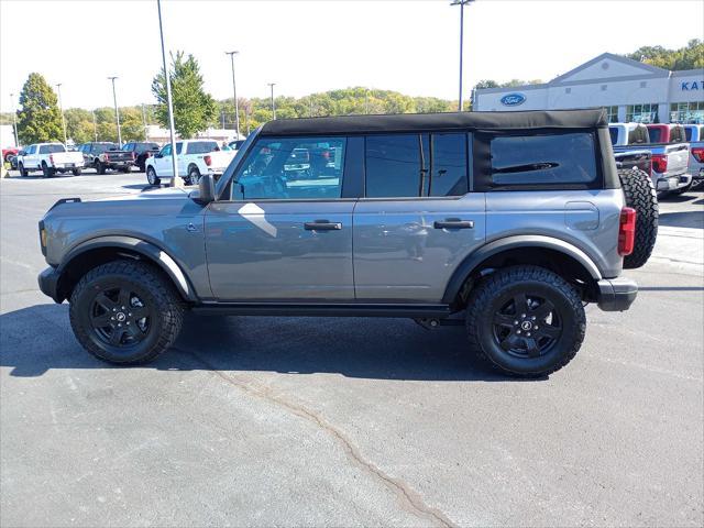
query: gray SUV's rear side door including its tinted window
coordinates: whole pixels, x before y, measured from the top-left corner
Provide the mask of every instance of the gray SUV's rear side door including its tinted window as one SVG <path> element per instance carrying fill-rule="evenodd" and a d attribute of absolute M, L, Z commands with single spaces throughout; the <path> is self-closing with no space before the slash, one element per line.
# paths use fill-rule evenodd
<path fill-rule="evenodd" d="M 439 302 L 484 243 L 484 195 L 470 191 L 466 133 L 365 139 L 365 190 L 354 210 L 355 295 Z"/>

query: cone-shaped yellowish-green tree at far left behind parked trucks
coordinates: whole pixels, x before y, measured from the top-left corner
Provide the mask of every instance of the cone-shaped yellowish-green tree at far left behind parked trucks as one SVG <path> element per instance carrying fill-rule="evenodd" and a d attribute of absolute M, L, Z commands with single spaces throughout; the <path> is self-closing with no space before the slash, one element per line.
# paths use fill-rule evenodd
<path fill-rule="evenodd" d="M 20 94 L 18 135 L 20 143 L 63 141 L 62 112 L 58 98 L 40 74 L 30 74 Z"/>

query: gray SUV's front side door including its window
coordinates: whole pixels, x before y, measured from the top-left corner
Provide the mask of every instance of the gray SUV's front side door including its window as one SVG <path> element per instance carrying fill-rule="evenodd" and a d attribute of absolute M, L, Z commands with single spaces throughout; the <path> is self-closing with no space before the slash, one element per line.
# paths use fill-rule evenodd
<path fill-rule="evenodd" d="M 231 199 L 206 213 L 218 300 L 354 299 L 355 200 L 342 193 L 345 145 L 344 138 L 257 140 L 233 175 Z"/>

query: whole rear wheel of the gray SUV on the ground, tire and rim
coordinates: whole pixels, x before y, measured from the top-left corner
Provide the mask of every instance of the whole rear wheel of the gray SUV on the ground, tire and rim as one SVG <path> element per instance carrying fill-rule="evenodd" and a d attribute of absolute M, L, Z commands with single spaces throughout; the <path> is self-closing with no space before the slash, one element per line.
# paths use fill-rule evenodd
<path fill-rule="evenodd" d="M 578 292 L 543 267 L 499 270 L 468 302 L 470 349 L 513 376 L 541 377 L 562 369 L 580 350 L 585 328 Z"/>

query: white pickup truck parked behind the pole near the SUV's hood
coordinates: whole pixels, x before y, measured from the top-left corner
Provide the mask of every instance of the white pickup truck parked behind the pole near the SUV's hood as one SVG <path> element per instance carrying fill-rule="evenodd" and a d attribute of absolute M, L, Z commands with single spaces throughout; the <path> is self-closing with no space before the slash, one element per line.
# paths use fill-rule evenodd
<path fill-rule="evenodd" d="M 178 176 L 186 185 L 197 185 L 204 174 L 222 174 L 234 157 L 234 151 L 222 151 L 213 140 L 183 140 L 176 142 Z M 166 144 L 158 154 L 145 163 L 146 179 L 151 185 L 160 185 L 163 179 L 174 177 L 172 145 Z"/>

